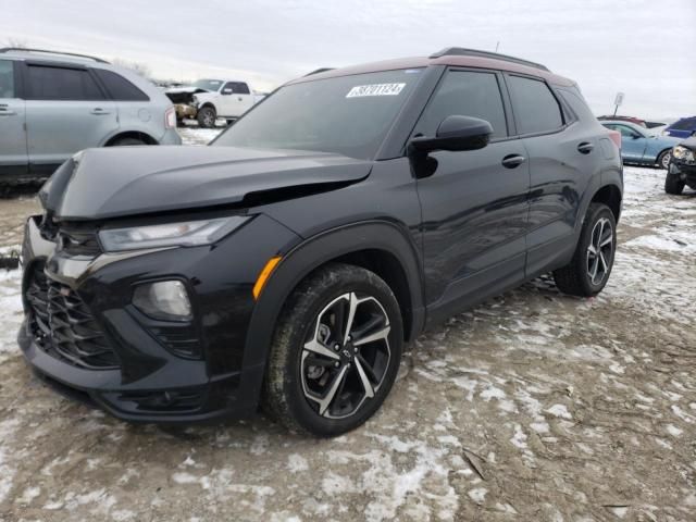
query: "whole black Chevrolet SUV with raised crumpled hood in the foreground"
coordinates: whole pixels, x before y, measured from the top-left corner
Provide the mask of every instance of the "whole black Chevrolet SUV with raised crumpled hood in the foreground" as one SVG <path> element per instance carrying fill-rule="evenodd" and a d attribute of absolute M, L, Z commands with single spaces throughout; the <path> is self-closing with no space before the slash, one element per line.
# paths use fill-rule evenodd
<path fill-rule="evenodd" d="M 572 80 L 453 48 L 290 82 L 208 147 L 86 150 L 27 222 L 20 345 L 121 419 L 344 433 L 427 325 L 549 271 L 602 289 L 614 134 Z"/>

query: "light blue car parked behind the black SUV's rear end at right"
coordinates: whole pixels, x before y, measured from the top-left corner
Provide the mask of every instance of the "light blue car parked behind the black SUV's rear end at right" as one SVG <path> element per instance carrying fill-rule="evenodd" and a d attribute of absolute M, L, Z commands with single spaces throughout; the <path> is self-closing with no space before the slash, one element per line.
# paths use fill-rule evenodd
<path fill-rule="evenodd" d="M 600 122 L 605 127 L 621 133 L 621 158 L 624 163 L 658 165 L 667 169 L 672 156 L 672 147 L 681 141 L 671 136 L 654 136 L 649 130 L 634 123 L 620 120 Z"/>

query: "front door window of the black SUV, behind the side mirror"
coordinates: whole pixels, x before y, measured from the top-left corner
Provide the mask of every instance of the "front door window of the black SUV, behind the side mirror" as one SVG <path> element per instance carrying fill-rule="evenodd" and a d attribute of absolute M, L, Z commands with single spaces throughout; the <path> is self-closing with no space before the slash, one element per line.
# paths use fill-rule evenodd
<path fill-rule="evenodd" d="M 425 108 L 417 129 L 435 136 L 447 116 L 472 116 L 493 126 L 493 138 L 508 135 L 498 79 L 494 73 L 449 71 Z"/>

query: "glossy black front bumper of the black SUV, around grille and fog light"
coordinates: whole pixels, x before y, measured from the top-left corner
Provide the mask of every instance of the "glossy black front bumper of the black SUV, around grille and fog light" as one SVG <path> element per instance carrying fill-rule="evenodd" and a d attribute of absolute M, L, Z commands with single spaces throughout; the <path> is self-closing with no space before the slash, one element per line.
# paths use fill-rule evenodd
<path fill-rule="evenodd" d="M 293 233 L 265 216 L 252 223 L 253 227 L 244 226 L 215 246 L 90 258 L 57 251 L 54 243 L 41 237 L 38 219 L 29 219 L 23 246 L 25 321 L 17 336 L 26 361 L 64 395 L 88 400 L 127 421 L 189 423 L 252 413 L 265 364 L 249 357 L 246 349 L 254 307 L 251 288 L 264 256 L 277 252 L 277 243 L 272 245 L 271 238 L 294 241 Z M 250 256 L 229 268 L 232 253 L 239 245 L 252 243 L 251 236 L 257 246 L 247 248 Z M 94 321 L 90 324 L 98 325 L 117 365 L 94 368 L 53 349 L 59 335 L 65 338 L 65 327 L 53 333 L 51 322 L 48 337 L 37 330 L 36 319 L 41 314 L 30 290 L 37 271 L 50 285 L 64 288 L 65 295 L 84 303 Z M 154 322 L 158 327 L 153 327 L 130 304 L 138 283 L 172 277 L 185 279 L 191 294 L 191 328 L 198 336 L 200 357 L 182 357 L 160 334 L 162 322 Z M 80 309 L 73 315 L 82 320 L 85 313 Z M 60 324 L 69 322 L 63 318 Z M 76 327 L 67 336 L 74 341 L 84 333 Z M 79 343 L 73 345 L 86 349 Z"/>

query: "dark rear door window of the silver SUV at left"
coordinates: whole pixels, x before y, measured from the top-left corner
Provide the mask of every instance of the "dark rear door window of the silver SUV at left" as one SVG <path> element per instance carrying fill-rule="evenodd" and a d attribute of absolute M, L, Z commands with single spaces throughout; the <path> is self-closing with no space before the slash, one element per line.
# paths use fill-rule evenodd
<path fill-rule="evenodd" d="M 103 100 L 86 69 L 27 65 L 29 100 Z"/>

